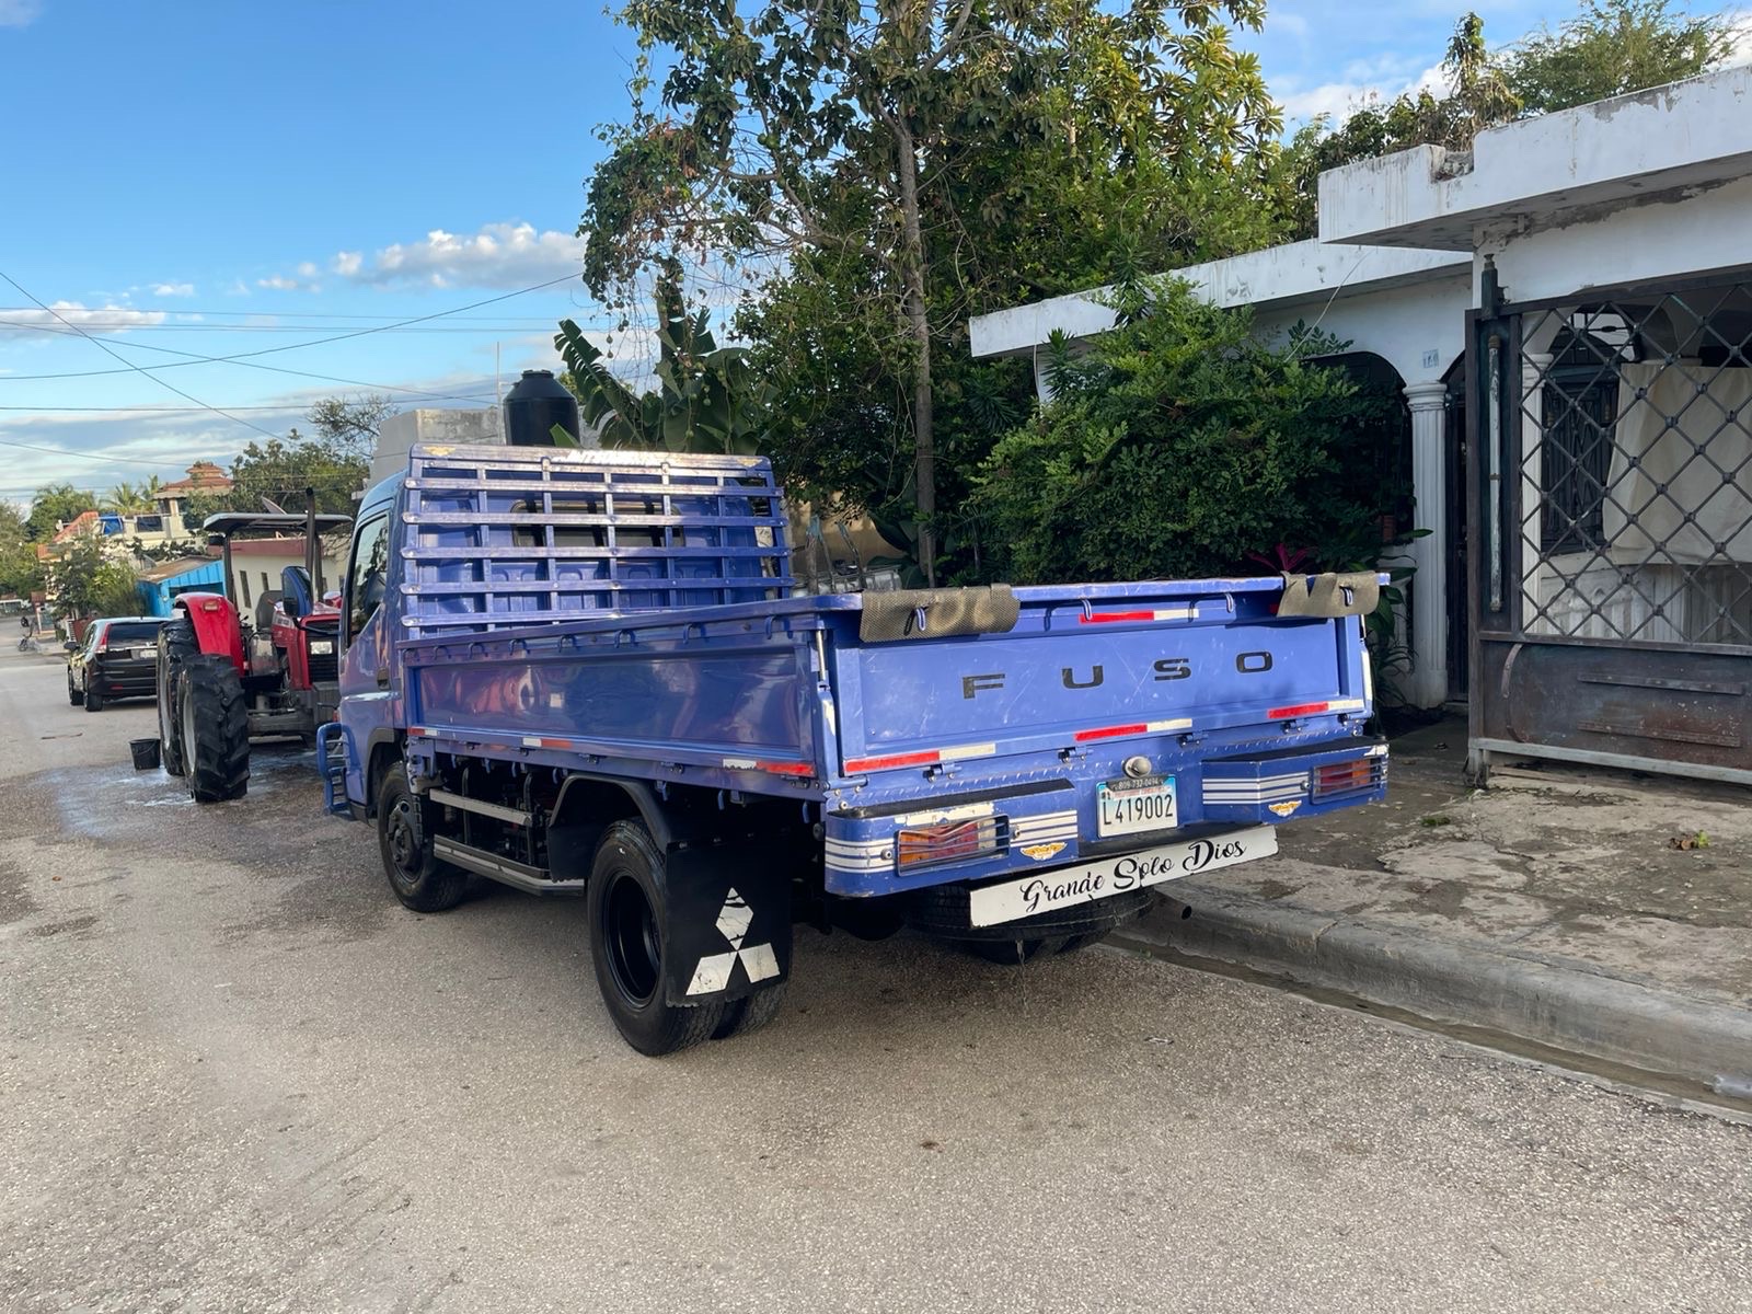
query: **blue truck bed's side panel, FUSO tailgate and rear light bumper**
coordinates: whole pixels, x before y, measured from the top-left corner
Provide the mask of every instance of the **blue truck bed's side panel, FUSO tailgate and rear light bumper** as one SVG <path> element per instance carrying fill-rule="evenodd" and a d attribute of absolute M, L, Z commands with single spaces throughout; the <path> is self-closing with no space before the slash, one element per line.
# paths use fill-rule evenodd
<path fill-rule="evenodd" d="M 1277 617 L 1281 592 L 1016 589 L 1006 631 L 890 641 L 857 594 L 440 629 L 399 645 L 408 757 L 792 797 L 820 813 L 843 895 L 1148 848 L 1102 823 L 1128 778 L 1167 781 L 1156 830 L 1186 843 L 1382 792 L 1360 620 Z M 1002 843 L 902 871 L 897 832 L 939 815 L 990 818 Z"/>

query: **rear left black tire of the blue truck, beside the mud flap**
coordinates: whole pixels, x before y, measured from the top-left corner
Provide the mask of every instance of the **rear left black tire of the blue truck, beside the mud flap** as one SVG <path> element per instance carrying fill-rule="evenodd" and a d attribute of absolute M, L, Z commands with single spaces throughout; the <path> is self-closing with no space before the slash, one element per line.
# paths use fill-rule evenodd
<path fill-rule="evenodd" d="M 596 988 L 615 1030 L 641 1055 L 659 1058 L 710 1039 L 724 1002 L 678 1007 L 664 999 L 664 857 L 639 822 L 603 832 L 585 904 Z"/>

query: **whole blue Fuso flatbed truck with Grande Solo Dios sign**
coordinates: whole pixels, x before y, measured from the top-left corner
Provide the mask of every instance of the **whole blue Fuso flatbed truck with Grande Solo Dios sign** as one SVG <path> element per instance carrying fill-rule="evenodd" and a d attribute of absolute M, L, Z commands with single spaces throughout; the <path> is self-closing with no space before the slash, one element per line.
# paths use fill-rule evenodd
<path fill-rule="evenodd" d="M 1374 575 L 794 596 L 764 459 L 415 447 L 345 580 L 331 811 L 396 897 L 587 901 L 615 1027 L 769 1020 L 792 927 L 993 960 L 1379 799 Z"/>

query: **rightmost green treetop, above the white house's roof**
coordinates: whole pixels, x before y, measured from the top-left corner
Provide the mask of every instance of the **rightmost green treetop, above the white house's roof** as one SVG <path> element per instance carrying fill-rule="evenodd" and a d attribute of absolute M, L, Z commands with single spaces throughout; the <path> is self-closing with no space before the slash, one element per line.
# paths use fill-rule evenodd
<path fill-rule="evenodd" d="M 1729 14 L 1687 14 L 1671 0 L 1584 0 L 1556 32 L 1540 26 L 1498 61 L 1522 110 L 1547 114 L 1696 77 L 1733 46 Z"/>

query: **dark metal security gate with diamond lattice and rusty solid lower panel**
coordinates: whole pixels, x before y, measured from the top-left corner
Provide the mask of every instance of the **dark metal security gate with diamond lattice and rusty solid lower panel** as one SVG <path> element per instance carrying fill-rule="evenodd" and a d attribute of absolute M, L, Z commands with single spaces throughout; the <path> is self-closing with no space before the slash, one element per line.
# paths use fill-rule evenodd
<path fill-rule="evenodd" d="M 1752 785 L 1752 275 L 1475 312 L 1468 380 L 1473 776 Z"/>

